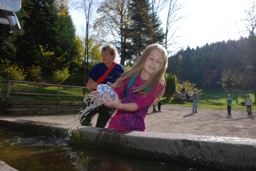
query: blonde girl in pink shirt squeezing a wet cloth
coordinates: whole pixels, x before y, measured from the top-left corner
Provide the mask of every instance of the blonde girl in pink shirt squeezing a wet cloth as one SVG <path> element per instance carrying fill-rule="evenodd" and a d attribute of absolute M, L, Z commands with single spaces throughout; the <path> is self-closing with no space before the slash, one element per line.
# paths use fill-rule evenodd
<path fill-rule="evenodd" d="M 145 131 L 148 106 L 156 104 L 164 93 L 167 58 L 162 45 L 149 45 L 138 62 L 116 81 L 115 100 L 107 93 L 106 101 L 102 95 L 104 105 L 118 109 L 109 121 L 109 129 Z"/>

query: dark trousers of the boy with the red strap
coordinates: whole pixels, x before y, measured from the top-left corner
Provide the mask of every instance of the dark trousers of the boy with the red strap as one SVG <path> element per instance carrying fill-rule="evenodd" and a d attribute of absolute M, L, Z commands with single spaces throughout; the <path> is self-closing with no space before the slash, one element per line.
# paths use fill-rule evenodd
<path fill-rule="evenodd" d="M 86 106 L 85 106 L 86 107 Z M 83 126 L 90 126 L 91 127 L 91 118 L 96 114 L 99 113 L 98 121 L 96 123 L 96 127 L 98 128 L 104 128 L 108 122 L 108 120 L 111 118 L 112 114 L 114 113 L 115 108 L 109 108 L 104 105 L 101 105 L 99 107 L 94 108 L 94 110 L 89 111 L 87 116 L 82 116 L 81 124 Z M 85 118 L 83 120 L 83 118 Z"/>

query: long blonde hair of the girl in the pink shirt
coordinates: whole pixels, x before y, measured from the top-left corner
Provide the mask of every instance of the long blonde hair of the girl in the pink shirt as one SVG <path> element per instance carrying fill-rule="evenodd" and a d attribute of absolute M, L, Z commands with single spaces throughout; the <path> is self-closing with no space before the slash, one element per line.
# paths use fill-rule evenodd
<path fill-rule="evenodd" d="M 124 72 L 119 79 L 117 79 L 115 86 L 119 87 L 122 90 L 124 86 L 124 82 L 128 78 L 131 78 L 134 75 L 137 77 L 141 73 L 141 70 L 143 69 L 144 64 L 147 61 L 147 57 L 153 49 L 157 49 L 163 53 L 163 62 L 161 63 L 160 68 L 155 73 L 152 74 L 151 79 L 146 81 L 142 86 L 134 88 L 134 92 L 143 94 L 143 97 L 147 97 L 150 93 L 152 93 L 154 88 L 158 86 L 159 83 L 161 83 L 165 87 L 165 79 L 163 75 L 165 74 L 165 70 L 167 68 L 168 54 L 167 54 L 167 50 L 161 44 L 158 44 L 158 43 L 150 44 L 143 51 L 137 63 L 130 70 Z M 151 85 L 151 88 L 145 91 L 145 89 L 148 88 L 150 85 Z M 154 96 L 156 97 L 156 100 L 154 101 L 154 103 L 157 103 L 163 96 L 164 89 L 160 94 L 158 93 L 159 89 L 160 89 L 160 86 L 158 86 L 157 91 L 154 93 Z M 156 96 L 156 94 L 158 94 L 158 96 Z"/>

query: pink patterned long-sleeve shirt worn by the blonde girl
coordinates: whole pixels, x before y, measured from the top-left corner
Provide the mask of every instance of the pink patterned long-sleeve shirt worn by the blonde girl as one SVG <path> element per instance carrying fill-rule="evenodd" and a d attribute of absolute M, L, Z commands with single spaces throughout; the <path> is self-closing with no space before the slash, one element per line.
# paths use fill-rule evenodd
<path fill-rule="evenodd" d="M 119 99 L 122 98 L 124 91 L 127 89 L 130 78 L 124 82 L 123 89 L 120 90 L 119 87 L 115 88 Z M 134 112 L 118 109 L 117 113 L 111 117 L 109 121 L 109 129 L 122 129 L 127 131 L 145 131 L 146 122 L 145 117 L 148 114 L 148 106 L 152 105 L 156 99 L 154 93 L 160 86 L 158 93 L 163 91 L 164 86 L 159 83 L 158 86 L 154 88 L 151 94 L 146 97 L 142 97 L 142 94 L 133 92 L 133 88 L 141 86 L 146 81 L 141 79 L 140 75 L 137 76 L 134 83 L 128 89 L 128 94 L 122 99 L 121 103 L 136 103 L 138 108 Z M 157 96 L 158 94 L 156 94 Z"/>

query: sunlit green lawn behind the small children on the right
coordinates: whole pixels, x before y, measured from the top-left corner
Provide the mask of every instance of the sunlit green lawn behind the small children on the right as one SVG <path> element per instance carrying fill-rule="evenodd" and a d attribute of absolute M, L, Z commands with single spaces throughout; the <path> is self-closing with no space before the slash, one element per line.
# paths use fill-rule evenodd
<path fill-rule="evenodd" d="M 247 94 L 250 94 L 250 98 L 252 99 L 252 102 L 254 102 L 254 90 L 244 90 L 241 92 L 238 97 L 238 103 L 236 104 L 235 99 L 235 93 L 234 92 L 226 92 L 224 90 L 208 90 L 206 91 L 205 100 L 203 99 L 203 95 L 199 95 L 200 101 L 198 102 L 197 107 L 198 108 L 211 108 L 211 109 L 226 109 L 226 99 L 227 95 L 230 94 L 231 98 L 233 100 L 232 103 L 232 109 L 236 110 L 247 110 L 246 106 L 243 106 L 241 102 L 245 100 L 245 96 Z M 220 96 L 220 97 L 214 97 L 214 96 Z M 233 96 L 233 97 L 232 97 Z M 193 103 L 191 102 L 185 102 L 185 101 L 177 101 L 173 98 L 166 99 L 166 97 L 163 97 L 161 99 L 161 102 L 163 105 L 175 105 L 175 106 L 183 106 L 183 107 L 193 107 Z M 252 110 L 256 110 L 256 105 L 252 105 Z"/>

